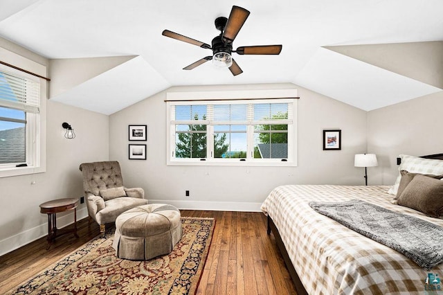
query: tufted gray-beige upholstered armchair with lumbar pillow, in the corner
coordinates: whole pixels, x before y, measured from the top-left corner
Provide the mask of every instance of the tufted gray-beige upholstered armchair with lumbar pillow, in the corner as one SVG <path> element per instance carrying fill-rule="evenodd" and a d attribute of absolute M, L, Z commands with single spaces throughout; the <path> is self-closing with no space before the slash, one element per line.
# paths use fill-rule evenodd
<path fill-rule="evenodd" d="M 89 222 L 100 225 L 105 234 L 105 224 L 115 222 L 118 215 L 137 206 L 147 204 L 143 188 L 125 188 L 118 161 L 82 163 L 84 197 Z"/>

